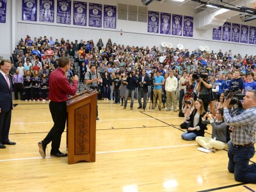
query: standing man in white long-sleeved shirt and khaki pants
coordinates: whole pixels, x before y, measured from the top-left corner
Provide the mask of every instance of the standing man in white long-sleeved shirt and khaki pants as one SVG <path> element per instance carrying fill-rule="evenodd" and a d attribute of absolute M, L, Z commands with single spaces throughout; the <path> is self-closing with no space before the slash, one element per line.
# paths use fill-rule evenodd
<path fill-rule="evenodd" d="M 177 112 L 177 99 L 175 97 L 175 90 L 178 87 L 178 79 L 173 76 L 173 70 L 169 71 L 169 77 L 165 81 L 166 91 L 166 111 L 170 111 L 172 104 L 174 112 Z"/>

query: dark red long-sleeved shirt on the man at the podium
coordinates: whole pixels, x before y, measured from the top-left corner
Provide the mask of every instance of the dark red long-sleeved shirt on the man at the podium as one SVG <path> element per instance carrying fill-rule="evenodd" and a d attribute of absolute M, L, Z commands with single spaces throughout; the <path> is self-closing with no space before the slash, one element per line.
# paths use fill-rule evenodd
<path fill-rule="evenodd" d="M 74 80 L 71 85 L 61 68 L 57 68 L 51 72 L 49 77 L 49 100 L 53 102 L 64 102 L 68 99 L 68 94 L 75 95 L 76 90 L 77 81 Z"/>

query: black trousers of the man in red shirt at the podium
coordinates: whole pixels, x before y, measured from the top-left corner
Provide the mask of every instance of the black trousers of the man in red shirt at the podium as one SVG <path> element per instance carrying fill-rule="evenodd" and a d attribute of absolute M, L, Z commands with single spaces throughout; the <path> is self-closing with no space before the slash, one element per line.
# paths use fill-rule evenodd
<path fill-rule="evenodd" d="M 43 143 L 48 145 L 52 141 L 51 154 L 60 152 L 61 134 L 64 132 L 67 121 L 67 102 L 50 102 L 49 108 L 54 125 L 45 137 Z"/>

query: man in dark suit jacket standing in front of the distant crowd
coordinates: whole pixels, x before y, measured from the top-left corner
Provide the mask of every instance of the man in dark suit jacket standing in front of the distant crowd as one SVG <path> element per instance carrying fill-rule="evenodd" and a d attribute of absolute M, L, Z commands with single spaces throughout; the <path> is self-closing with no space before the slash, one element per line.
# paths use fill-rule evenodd
<path fill-rule="evenodd" d="M 141 104 L 141 96 L 143 96 L 143 109 L 146 108 L 146 102 L 147 102 L 147 95 L 148 95 L 148 85 L 150 85 L 150 79 L 146 75 L 146 70 L 143 69 L 141 72 L 141 76 L 139 77 L 138 80 L 138 102 L 139 102 L 139 107 L 138 109 L 142 108 Z"/>

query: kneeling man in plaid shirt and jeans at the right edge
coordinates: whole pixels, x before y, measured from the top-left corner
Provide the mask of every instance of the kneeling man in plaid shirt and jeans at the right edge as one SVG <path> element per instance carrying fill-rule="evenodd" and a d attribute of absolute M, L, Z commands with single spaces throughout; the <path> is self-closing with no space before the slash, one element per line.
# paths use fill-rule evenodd
<path fill-rule="evenodd" d="M 228 149 L 228 171 L 234 173 L 234 178 L 239 182 L 256 184 L 255 164 L 248 164 L 255 154 L 256 92 L 246 92 L 242 102 L 244 111 L 234 117 L 228 112 L 230 100 L 226 99 L 223 104 L 225 123 L 234 126 L 230 133 L 232 145 Z"/>

